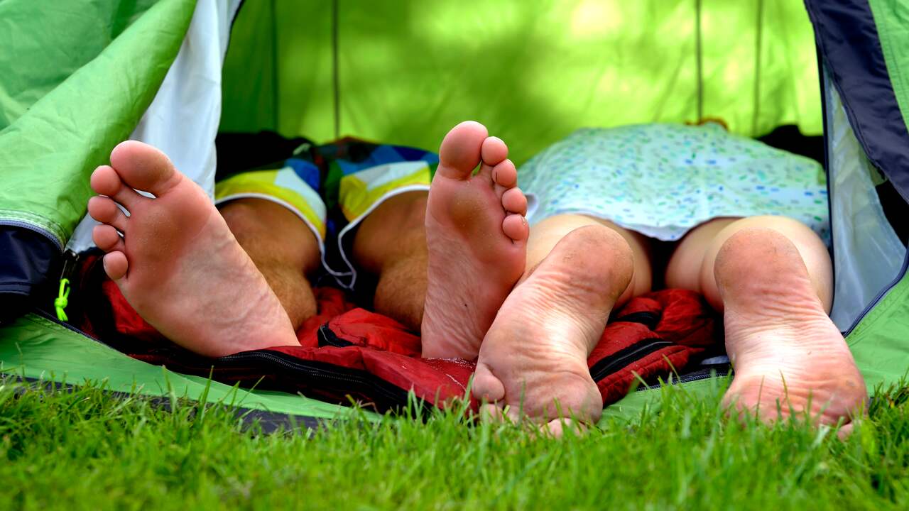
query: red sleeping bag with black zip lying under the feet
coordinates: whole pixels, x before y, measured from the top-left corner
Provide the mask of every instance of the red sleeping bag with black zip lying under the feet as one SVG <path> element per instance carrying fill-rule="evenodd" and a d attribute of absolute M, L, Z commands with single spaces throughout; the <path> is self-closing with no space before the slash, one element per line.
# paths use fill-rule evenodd
<path fill-rule="evenodd" d="M 297 332 L 302 346 L 196 356 L 145 323 L 98 263 L 100 258 L 91 256 L 80 265 L 75 291 L 83 310 L 76 326 L 126 355 L 181 373 L 337 403 L 353 399 L 384 411 L 405 406 L 411 390 L 427 403 L 445 406 L 465 396 L 474 371 L 474 361 L 421 358 L 418 335 L 355 307 L 332 287 L 315 289 L 318 315 Z M 639 296 L 614 312 L 587 361 L 603 405 L 621 399 L 635 381 L 681 372 L 715 345 L 715 320 L 701 296 L 679 289 Z"/>

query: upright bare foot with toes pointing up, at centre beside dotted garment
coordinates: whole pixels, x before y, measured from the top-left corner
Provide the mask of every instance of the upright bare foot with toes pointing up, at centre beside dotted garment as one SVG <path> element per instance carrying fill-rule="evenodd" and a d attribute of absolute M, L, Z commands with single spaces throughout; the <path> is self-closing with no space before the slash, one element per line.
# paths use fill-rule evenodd
<path fill-rule="evenodd" d="M 504 142 L 473 121 L 454 126 L 442 141 L 426 205 L 425 357 L 474 359 L 524 273 L 527 199 L 507 155 Z"/>

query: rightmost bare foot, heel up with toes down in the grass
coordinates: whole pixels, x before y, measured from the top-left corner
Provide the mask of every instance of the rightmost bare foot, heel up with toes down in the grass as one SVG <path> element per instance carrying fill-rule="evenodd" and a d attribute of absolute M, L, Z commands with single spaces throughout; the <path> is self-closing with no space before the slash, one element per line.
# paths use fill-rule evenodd
<path fill-rule="evenodd" d="M 789 239 L 740 231 L 716 255 L 714 275 L 735 369 L 726 404 L 767 422 L 807 412 L 817 424 L 848 425 L 861 413 L 862 375 Z"/>

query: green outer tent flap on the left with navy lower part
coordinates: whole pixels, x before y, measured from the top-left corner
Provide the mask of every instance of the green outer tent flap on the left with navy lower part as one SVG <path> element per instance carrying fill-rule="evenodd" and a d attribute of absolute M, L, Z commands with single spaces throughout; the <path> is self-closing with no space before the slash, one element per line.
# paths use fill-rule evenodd
<path fill-rule="evenodd" d="M 85 215 L 89 173 L 151 103 L 194 3 L 0 4 L 8 28 L 0 31 L 0 230 L 43 236 L 0 246 L 15 255 L 0 266 L 10 270 L 0 275 L 4 302 L 35 296 L 55 279 Z M 37 280 L 23 281 L 26 274 Z"/>

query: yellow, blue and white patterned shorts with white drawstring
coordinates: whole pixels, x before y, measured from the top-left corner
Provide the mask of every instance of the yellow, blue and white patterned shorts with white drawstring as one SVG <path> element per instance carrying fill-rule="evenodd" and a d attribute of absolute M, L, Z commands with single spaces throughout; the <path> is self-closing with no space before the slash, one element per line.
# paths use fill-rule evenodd
<path fill-rule="evenodd" d="M 346 288 L 357 279 L 349 255 L 357 225 L 389 197 L 429 190 L 439 162 L 423 149 L 354 138 L 325 145 L 285 141 L 257 158 L 230 154 L 245 145 L 237 142 L 219 149 L 215 204 L 260 198 L 284 205 L 313 231 L 325 271 Z"/>

